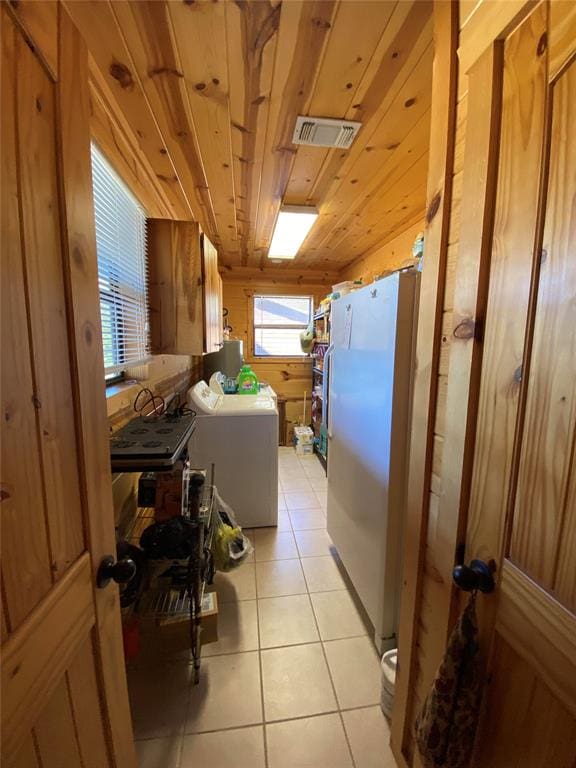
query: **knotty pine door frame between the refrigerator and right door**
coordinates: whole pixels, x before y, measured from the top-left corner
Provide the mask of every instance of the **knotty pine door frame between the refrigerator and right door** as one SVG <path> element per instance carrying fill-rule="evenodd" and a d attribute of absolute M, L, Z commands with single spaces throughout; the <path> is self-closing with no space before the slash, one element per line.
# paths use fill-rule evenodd
<path fill-rule="evenodd" d="M 443 48 L 436 51 L 434 64 L 431 136 L 437 147 L 430 153 L 428 177 L 428 223 L 412 424 L 412 485 L 400 619 L 402 666 L 392 722 L 392 745 L 402 766 L 413 761 L 419 765 L 413 753 L 414 719 L 429 690 L 446 641 L 442 631 L 435 631 L 438 622 L 434 609 L 443 586 L 435 556 L 467 111 L 465 78 L 460 79 L 457 95 L 452 80 L 458 66 L 455 55 L 458 18 L 454 16 L 457 10 L 454 5 L 443 2 L 437 2 L 434 10 L 435 39 L 438 43 L 442 36 Z"/>

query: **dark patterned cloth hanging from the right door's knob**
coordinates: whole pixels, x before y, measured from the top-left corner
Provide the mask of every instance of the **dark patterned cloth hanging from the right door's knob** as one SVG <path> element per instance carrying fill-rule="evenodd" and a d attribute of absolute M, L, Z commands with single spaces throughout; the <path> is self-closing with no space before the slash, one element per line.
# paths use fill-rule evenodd
<path fill-rule="evenodd" d="M 416 718 L 416 744 L 426 768 L 468 768 L 480 706 L 478 623 L 470 598 Z"/>

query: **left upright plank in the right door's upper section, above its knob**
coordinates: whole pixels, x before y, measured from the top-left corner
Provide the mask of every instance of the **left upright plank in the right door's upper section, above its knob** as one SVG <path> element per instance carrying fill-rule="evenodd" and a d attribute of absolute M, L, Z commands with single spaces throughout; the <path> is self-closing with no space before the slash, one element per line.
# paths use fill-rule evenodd
<path fill-rule="evenodd" d="M 504 50 L 499 182 L 468 513 L 467 548 L 484 559 L 500 552 L 509 493 L 546 119 L 546 56 L 538 55 L 545 32 L 546 9 L 539 6 Z"/>

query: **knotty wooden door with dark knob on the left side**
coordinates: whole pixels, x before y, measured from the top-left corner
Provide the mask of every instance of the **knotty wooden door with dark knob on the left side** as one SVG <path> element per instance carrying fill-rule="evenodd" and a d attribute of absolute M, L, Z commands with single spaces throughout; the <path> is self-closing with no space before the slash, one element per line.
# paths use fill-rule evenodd
<path fill-rule="evenodd" d="M 114 553 L 87 51 L 62 6 L 0 8 L 2 765 L 136 765 Z"/>

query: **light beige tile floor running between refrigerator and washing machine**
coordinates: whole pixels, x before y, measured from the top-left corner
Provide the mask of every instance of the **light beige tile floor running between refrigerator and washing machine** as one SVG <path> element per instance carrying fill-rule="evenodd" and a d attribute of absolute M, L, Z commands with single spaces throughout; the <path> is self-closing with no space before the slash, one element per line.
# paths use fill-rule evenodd
<path fill-rule="evenodd" d="M 365 617 L 326 532 L 326 477 L 279 449 L 279 525 L 218 574 L 218 642 L 129 672 L 140 768 L 395 768 Z"/>

